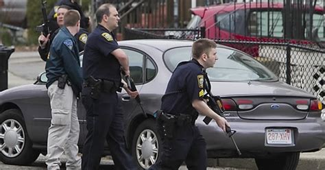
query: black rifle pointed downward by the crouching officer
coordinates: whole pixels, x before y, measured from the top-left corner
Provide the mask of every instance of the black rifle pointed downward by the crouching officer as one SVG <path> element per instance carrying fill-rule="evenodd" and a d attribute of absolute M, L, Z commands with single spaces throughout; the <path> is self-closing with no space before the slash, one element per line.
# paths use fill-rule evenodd
<path fill-rule="evenodd" d="M 208 77 L 208 76 L 206 76 Z M 206 79 L 204 79 L 204 84 L 206 87 L 209 87 L 209 84 L 207 82 Z M 210 90 L 207 90 L 207 94 L 204 95 L 204 99 L 208 99 L 208 106 L 211 110 L 213 110 L 213 112 L 216 112 L 217 114 L 219 114 L 221 117 L 224 117 L 224 106 L 222 105 L 222 101 L 221 98 L 219 96 L 214 96 Z M 224 117 L 225 118 L 225 117 Z M 226 119 L 226 118 L 225 118 Z M 208 125 L 208 123 L 210 123 L 212 119 L 210 117 L 205 117 L 203 119 L 204 123 L 206 123 L 206 125 Z M 241 155 L 241 151 L 239 150 L 236 141 L 234 141 L 234 138 L 232 138 L 232 135 L 234 135 L 234 133 L 236 133 L 236 130 L 231 130 L 231 128 L 226 125 L 226 133 L 228 134 L 228 137 L 231 138 L 232 143 L 234 143 L 234 147 L 236 147 L 237 149 L 237 153 L 240 156 Z"/>

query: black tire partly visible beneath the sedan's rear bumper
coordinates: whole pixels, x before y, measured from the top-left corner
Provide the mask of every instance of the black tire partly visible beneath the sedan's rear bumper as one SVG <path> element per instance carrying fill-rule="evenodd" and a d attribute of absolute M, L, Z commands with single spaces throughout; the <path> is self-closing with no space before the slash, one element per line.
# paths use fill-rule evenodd
<path fill-rule="evenodd" d="M 258 170 L 295 170 L 298 166 L 300 152 L 289 152 L 272 158 L 255 158 Z"/>

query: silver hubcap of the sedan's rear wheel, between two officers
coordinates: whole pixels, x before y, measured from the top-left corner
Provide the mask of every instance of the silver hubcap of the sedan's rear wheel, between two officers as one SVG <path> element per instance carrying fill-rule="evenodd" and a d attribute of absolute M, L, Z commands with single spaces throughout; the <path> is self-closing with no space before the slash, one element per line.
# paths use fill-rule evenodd
<path fill-rule="evenodd" d="M 158 140 L 152 130 L 143 130 L 136 141 L 136 158 L 143 167 L 148 169 L 158 158 Z"/>

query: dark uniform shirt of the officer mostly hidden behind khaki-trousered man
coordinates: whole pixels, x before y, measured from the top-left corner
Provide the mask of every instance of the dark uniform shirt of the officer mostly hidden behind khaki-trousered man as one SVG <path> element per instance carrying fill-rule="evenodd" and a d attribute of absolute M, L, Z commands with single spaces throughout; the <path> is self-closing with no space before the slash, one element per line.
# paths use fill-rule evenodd
<path fill-rule="evenodd" d="M 49 47 L 51 46 L 51 43 L 54 37 L 56 37 L 56 34 L 58 34 L 59 30 L 60 29 L 56 29 L 56 32 L 53 32 L 53 34 L 49 36 L 49 42 L 47 42 L 44 49 L 38 46 L 38 53 L 40 54 L 40 58 L 42 58 L 42 60 L 45 62 L 49 57 Z M 86 45 L 87 38 L 88 32 L 86 29 L 80 28 L 80 31 L 75 34 L 75 39 L 77 40 L 79 51 L 84 51 L 84 45 Z"/>

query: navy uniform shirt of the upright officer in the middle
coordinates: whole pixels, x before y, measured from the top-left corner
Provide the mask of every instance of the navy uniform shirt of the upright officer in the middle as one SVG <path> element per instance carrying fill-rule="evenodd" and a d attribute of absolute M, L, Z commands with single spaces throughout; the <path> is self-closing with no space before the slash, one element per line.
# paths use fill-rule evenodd
<path fill-rule="evenodd" d="M 116 84 L 121 82 L 121 65 L 112 51 L 119 49 L 112 32 L 98 25 L 88 36 L 84 48 L 82 69 L 84 78 L 91 75 L 97 79 L 111 80 Z"/>

